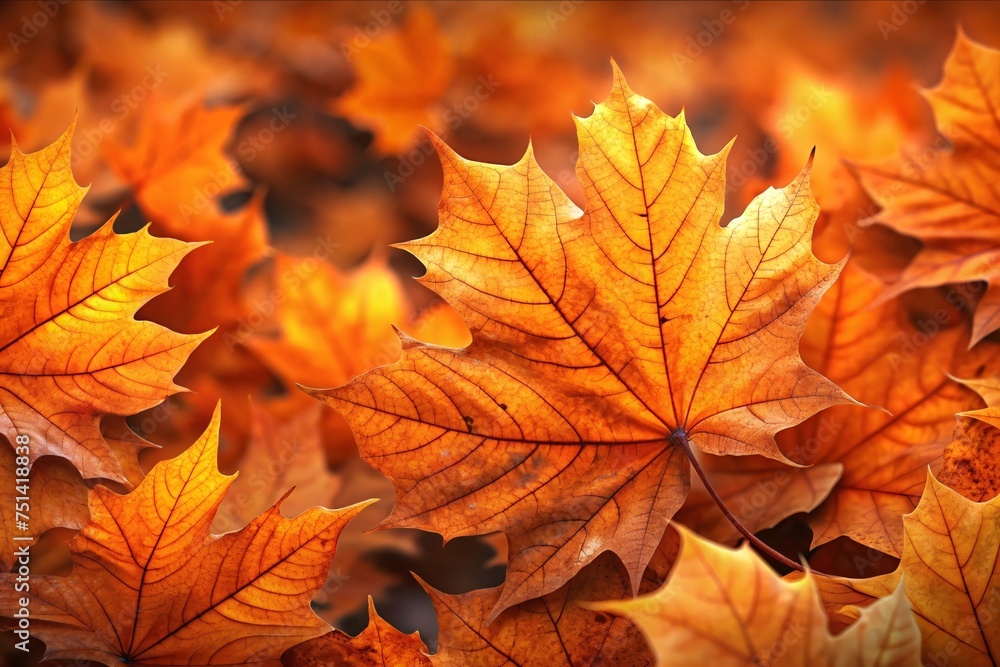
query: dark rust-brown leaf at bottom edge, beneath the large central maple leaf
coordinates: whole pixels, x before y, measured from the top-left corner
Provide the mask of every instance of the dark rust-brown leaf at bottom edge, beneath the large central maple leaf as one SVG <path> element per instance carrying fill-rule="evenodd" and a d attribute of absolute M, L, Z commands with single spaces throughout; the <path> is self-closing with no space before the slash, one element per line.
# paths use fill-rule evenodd
<path fill-rule="evenodd" d="M 653 664 L 638 628 L 581 606 L 595 596 L 629 594 L 628 574 L 610 554 L 559 590 L 508 609 L 489 625 L 486 619 L 501 596 L 499 588 L 446 595 L 420 583 L 431 596 L 440 626 L 438 652 L 431 657 L 435 665 Z M 644 581 L 643 590 L 654 587 Z"/>

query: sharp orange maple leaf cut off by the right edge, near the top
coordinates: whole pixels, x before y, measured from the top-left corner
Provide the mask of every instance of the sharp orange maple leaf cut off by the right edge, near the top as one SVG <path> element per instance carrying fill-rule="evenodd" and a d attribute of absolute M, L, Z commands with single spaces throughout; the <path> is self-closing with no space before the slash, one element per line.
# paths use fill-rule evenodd
<path fill-rule="evenodd" d="M 889 294 L 985 280 L 972 343 L 1000 328 L 1000 51 L 959 31 L 939 86 L 925 92 L 952 150 L 935 146 L 856 169 L 883 210 L 878 222 L 915 236 L 923 249 Z"/>

